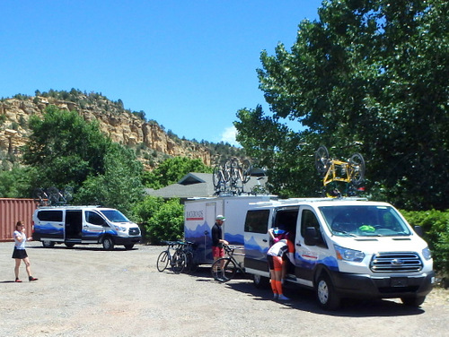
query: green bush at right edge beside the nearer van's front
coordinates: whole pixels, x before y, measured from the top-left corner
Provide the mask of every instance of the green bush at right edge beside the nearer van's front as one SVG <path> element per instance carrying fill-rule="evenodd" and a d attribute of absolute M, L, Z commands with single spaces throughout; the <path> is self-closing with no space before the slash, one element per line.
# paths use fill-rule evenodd
<path fill-rule="evenodd" d="M 420 226 L 434 257 L 434 269 L 449 278 L 449 211 L 401 211 L 411 226 Z"/>

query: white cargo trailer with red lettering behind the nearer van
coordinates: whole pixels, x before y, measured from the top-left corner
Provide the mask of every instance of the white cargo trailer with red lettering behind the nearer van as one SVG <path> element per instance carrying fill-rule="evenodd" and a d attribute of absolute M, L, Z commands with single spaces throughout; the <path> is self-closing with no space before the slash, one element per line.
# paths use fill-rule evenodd
<path fill-rule="evenodd" d="M 193 242 L 196 264 L 212 264 L 212 227 L 216 216 L 225 216 L 223 233 L 233 246 L 244 244 L 244 222 L 250 203 L 277 199 L 273 195 L 230 195 L 192 198 L 184 204 L 184 238 Z"/>

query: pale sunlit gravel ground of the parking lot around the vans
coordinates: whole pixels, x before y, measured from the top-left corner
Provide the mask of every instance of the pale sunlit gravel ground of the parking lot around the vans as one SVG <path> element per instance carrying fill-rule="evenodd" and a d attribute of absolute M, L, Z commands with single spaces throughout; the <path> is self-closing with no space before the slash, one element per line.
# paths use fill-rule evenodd
<path fill-rule="evenodd" d="M 350 301 L 336 312 L 318 307 L 312 291 L 269 289 L 239 278 L 212 280 L 158 272 L 161 246 L 43 248 L 27 252 L 39 281 L 13 282 L 13 243 L 0 243 L 1 336 L 446 336 L 449 290 L 434 289 L 422 307 L 400 300 Z"/>

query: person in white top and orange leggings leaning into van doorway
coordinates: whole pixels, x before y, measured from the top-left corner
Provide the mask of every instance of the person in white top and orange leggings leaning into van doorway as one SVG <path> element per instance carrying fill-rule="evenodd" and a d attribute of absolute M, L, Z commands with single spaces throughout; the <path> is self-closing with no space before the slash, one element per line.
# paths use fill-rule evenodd
<path fill-rule="evenodd" d="M 284 296 L 282 291 L 282 269 L 285 264 L 284 255 L 287 255 L 291 263 L 295 264 L 295 246 L 289 237 L 289 233 L 282 234 L 281 239 L 271 246 L 267 252 L 273 298 L 284 301 L 290 299 Z"/>

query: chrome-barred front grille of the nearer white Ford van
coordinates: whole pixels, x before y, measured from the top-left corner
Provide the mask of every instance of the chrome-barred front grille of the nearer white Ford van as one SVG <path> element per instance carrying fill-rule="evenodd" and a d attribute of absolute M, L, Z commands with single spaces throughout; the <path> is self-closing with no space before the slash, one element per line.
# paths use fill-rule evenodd
<path fill-rule="evenodd" d="M 377 253 L 370 264 L 372 272 L 419 272 L 422 266 L 419 255 L 413 252 Z"/>

